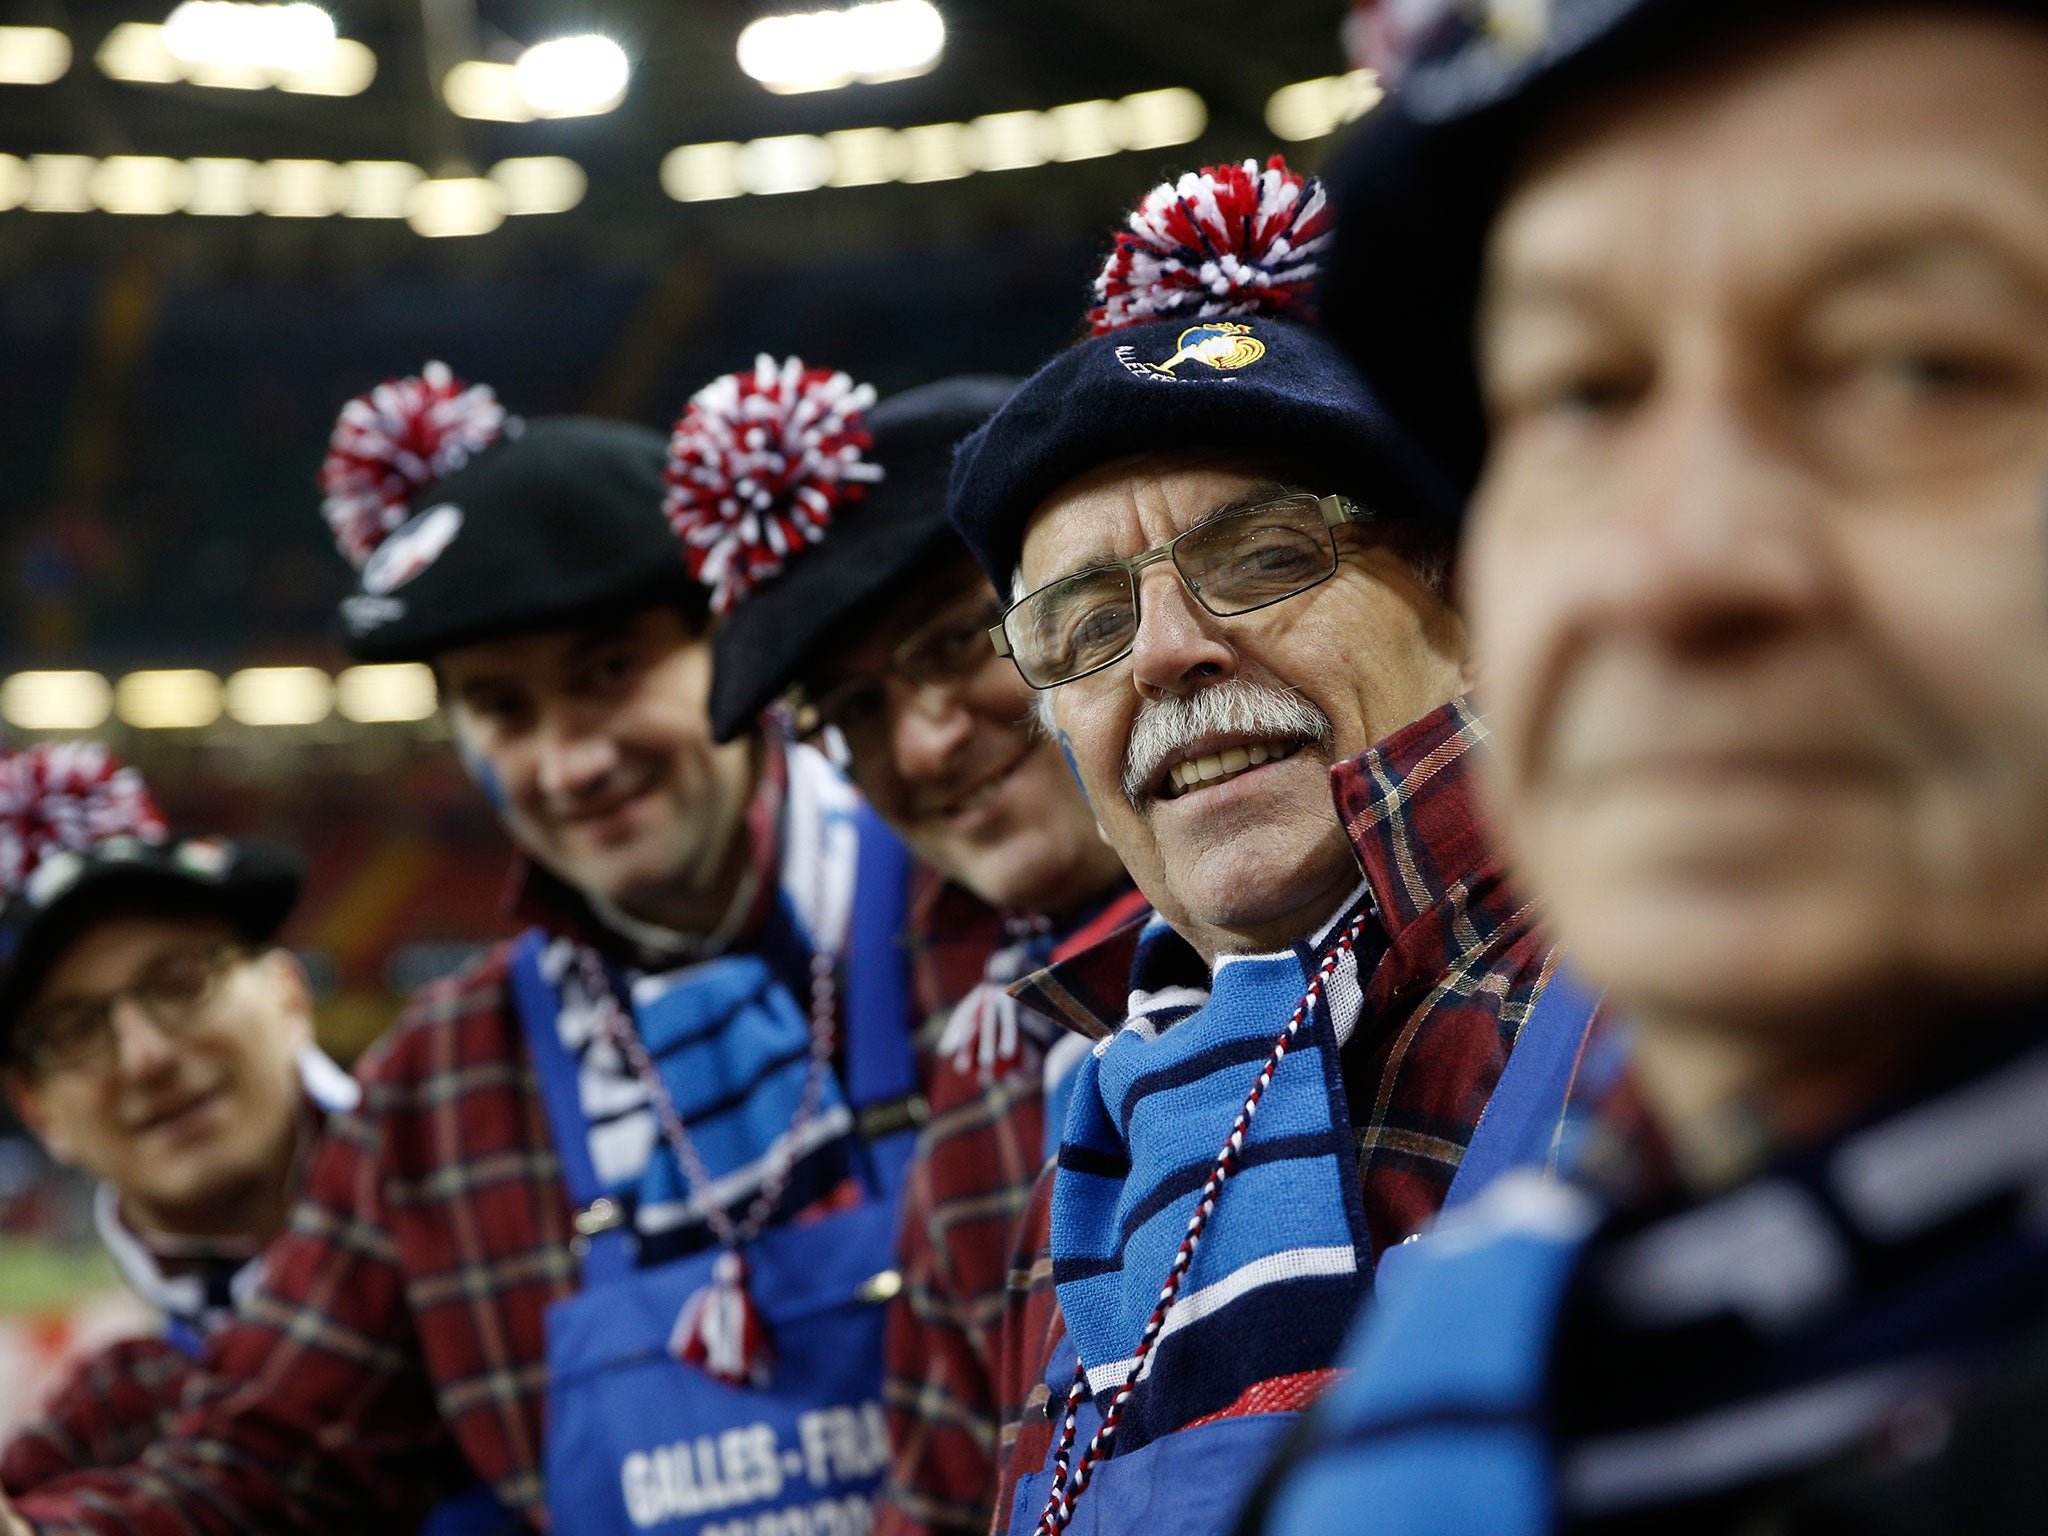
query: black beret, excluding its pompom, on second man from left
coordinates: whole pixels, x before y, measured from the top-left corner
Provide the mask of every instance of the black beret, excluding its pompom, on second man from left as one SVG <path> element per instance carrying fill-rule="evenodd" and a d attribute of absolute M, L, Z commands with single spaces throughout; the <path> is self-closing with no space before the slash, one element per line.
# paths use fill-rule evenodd
<path fill-rule="evenodd" d="M 700 625 L 705 592 L 662 516 L 666 455 L 659 432 L 582 416 L 494 442 L 412 498 L 342 600 L 342 643 L 424 662 L 657 602 Z"/>

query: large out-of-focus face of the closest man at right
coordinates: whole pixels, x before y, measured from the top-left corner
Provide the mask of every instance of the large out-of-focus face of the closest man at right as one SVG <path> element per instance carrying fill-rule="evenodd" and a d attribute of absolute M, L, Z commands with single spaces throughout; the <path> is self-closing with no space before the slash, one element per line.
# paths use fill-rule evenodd
<path fill-rule="evenodd" d="M 1495 788 L 1628 1008 L 1862 1040 L 2048 979 L 2044 82 L 2038 25 L 1837 16 L 1495 223 Z"/>

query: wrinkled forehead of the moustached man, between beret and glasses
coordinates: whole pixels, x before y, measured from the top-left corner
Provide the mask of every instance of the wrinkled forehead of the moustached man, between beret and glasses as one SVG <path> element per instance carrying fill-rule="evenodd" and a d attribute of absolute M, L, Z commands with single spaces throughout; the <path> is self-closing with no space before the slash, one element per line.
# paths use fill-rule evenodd
<path fill-rule="evenodd" d="M 1255 506 L 1313 475 L 1255 453 L 1143 455 L 1061 485 L 1024 524 L 1024 590 L 1133 559 L 1219 512 Z"/>

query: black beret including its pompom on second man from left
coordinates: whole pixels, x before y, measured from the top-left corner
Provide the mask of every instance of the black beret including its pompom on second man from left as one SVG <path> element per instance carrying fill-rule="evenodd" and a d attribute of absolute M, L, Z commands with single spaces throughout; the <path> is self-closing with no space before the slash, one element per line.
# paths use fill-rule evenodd
<path fill-rule="evenodd" d="M 356 563 L 344 647 L 426 662 L 664 602 L 702 627 L 705 594 L 662 516 L 664 461 L 659 432 L 520 424 L 440 365 L 350 401 L 322 471 L 328 522 Z"/>

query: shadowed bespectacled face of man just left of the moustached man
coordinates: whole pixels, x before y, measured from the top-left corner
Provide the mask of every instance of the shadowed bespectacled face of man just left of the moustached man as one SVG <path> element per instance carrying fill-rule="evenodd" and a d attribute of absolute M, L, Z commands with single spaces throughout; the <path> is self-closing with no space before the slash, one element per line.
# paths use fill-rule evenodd
<path fill-rule="evenodd" d="M 831 657 L 811 694 L 840 723 L 860 791 L 922 858 L 993 905 L 1069 913 L 1122 866 L 1034 729 L 1032 690 L 989 643 L 999 616 L 963 555 Z"/>

